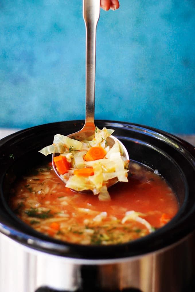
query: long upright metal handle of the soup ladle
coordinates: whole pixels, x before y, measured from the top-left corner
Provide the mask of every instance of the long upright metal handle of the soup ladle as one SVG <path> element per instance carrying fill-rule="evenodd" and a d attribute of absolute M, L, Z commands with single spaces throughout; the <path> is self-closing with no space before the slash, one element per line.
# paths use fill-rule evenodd
<path fill-rule="evenodd" d="M 85 125 L 94 126 L 96 28 L 100 17 L 100 0 L 83 0 L 86 28 L 86 116 Z"/>

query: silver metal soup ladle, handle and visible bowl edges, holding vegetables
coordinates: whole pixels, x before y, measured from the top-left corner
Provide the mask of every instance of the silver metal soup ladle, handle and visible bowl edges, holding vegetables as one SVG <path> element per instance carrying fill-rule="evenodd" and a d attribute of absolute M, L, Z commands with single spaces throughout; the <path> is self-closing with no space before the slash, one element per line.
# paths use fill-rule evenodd
<path fill-rule="evenodd" d="M 69 138 L 79 141 L 89 140 L 94 137 L 94 107 L 95 107 L 95 56 L 96 56 L 96 28 L 100 17 L 100 0 L 83 0 L 83 18 L 86 28 L 86 109 L 85 124 L 83 128 L 73 134 L 69 134 Z M 112 147 L 115 142 L 119 142 L 120 148 L 123 150 L 123 156 L 129 160 L 129 154 L 116 137 L 110 135 L 107 138 L 107 144 Z M 61 178 L 54 164 L 55 154 L 52 154 L 52 165 L 56 174 Z M 62 178 L 61 178 L 62 179 Z M 116 183 L 113 180 L 109 183 L 109 187 Z"/>

